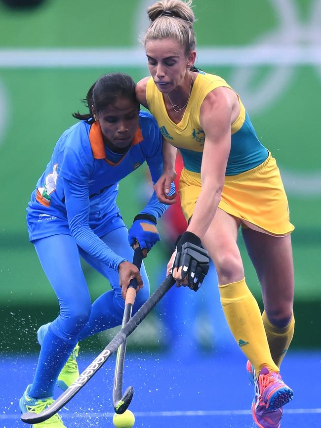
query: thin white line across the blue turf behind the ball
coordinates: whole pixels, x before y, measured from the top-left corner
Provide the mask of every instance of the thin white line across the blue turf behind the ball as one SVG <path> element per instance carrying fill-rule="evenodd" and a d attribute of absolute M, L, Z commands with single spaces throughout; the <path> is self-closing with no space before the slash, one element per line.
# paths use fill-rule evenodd
<path fill-rule="evenodd" d="M 298 414 L 319 414 L 321 413 L 321 408 L 317 409 L 284 409 L 284 413 L 289 415 L 298 415 Z M 176 411 L 176 412 L 135 412 L 136 417 L 143 417 L 143 418 L 159 418 L 159 417 L 175 417 L 175 416 L 243 416 L 243 415 L 250 415 L 250 410 L 190 410 L 190 411 Z M 68 418 L 112 418 L 114 416 L 114 413 L 108 412 L 108 413 L 91 413 L 91 412 L 81 412 L 81 413 L 66 413 L 62 412 L 59 413 L 59 415 L 63 419 Z M 20 415 L 0 415 L 1 419 L 20 419 Z"/>

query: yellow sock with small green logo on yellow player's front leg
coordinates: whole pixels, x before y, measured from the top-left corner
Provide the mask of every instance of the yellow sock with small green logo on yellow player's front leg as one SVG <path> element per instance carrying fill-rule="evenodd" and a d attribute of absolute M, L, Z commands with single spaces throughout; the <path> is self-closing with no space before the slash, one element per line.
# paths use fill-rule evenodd
<path fill-rule="evenodd" d="M 230 330 L 252 363 L 256 374 L 259 374 L 264 366 L 279 373 L 279 368 L 271 356 L 260 308 L 249 291 L 245 278 L 218 287 Z"/>

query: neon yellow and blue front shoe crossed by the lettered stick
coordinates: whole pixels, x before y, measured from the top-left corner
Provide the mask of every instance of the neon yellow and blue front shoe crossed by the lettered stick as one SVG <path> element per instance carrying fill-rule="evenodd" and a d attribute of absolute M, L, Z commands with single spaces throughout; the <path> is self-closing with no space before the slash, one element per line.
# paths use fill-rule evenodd
<path fill-rule="evenodd" d="M 30 386 L 31 385 L 27 386 L 27 389 L 23 393 L 23 396 L 20 398 L 20 401 L 19 401 L 20 411 L 21 413 L 33 412 L 38 414 L 42 412 L 42 410 L 50 406 L 50 404 L 52 404 L 54 400 L 52 399 L 52 397 L 45 397 L 45 398 L 30 397 L 30 395 L 28 394 Z M 46 421 L 40 422 L 40 424 L 33 424 L 31 428 L 67 428 L 67 427 L 63 424 L 60 416 L 56 413 Z"/>

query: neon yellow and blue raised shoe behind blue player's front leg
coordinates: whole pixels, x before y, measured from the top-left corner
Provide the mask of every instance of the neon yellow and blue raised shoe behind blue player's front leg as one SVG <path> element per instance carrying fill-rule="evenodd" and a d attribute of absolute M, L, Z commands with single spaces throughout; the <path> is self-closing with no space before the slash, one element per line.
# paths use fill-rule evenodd
<path fill-rule="evenodd" d="M 40 346 L 43 342 L 45 334 L 48 331 L 49 325 L 50 323 L 42 325 L 37 332 L 38 342 Z M 76 381 L 76 379 L 79 378 L 79 370 L 77 363 L 78 353 L 79 344 L 77 343 L 58 376 L 57 386 L 59 386 L 59 388 L 61 388 L 63 391 L 65 391 L 73 382 Z"/>

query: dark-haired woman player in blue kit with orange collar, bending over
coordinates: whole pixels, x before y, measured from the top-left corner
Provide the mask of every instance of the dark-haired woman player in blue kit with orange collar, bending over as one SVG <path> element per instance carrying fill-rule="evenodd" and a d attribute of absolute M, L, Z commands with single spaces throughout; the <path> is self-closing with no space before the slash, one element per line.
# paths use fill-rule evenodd
<path fill-rule="evenodd" d="M 118 182 L 145 161 L 154 183 L 161 177 L 161 132 L 150 113 L 139 111 L 135 84 L 125 74 L 102 76 L 89 89 L 86 102 L 88 114 L 73 114 L 80 122 L 59 138 L 27 208 L 30 241 L 56 293 L 60 314 L 38 331 L 40 356 L 33 383 L 20 399 L 23 413 L 39 413 L 52 403 L 58 375 L 63 389 L 77 379 L 78 342 L 121 324 L 132 278 L 139 291 L 133 312 L 149 297 L 144 265 L 139 272 L 130 262 L 131 245 L 137 240 L 146 256 L 160 240 L 156 223 L 167 205 L 154 193 L 128 233 L 116 198 Z M 93 304 L 79 256 L 112 286 Z M 47 426 L 65 427 L 57 414 L 35 425 Z"/>

